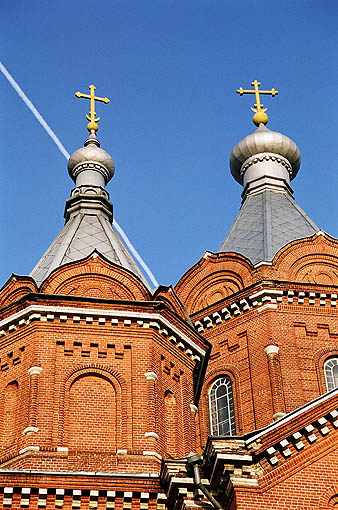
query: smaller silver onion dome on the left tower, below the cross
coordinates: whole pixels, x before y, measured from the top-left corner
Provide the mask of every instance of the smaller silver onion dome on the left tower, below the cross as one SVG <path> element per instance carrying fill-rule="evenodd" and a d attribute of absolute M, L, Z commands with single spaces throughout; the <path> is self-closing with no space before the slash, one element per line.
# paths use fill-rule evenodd
<path fill-rule="evenodd" d="M 78 185 L 78 178 L 82 174 L 82 179 L 87 180 L 89 176 L 94 177 L 100 174 L 104 183 L 107 184 L 114 176 L 114 162 L 105 150 L 100 148 L 100 142 L 96 138 L 94 131 L 91 132 L 88 139 L 84 143 L 84 147 L 77 149 L 68 160 L 68 173 L 72 180 Z M 86 177 L 85 177 L 86 176 Z M 91 180 L 91 179 L 90 179 Z M 96 180 L 94 178 L 94 180 Z M 85 184 L 95 184 L 94 182 L 86 182 Z"/>

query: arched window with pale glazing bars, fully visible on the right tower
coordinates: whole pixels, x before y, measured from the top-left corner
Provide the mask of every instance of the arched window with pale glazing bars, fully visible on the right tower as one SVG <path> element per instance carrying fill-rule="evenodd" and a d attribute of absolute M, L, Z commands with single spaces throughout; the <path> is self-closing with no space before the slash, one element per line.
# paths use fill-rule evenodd
<path fill-rule="evenodd" d="M 232 381 L 222 375 L 212 384 L 209 391 L 210 428 L 217 436 L 236 434 L 234 397 Z"/>

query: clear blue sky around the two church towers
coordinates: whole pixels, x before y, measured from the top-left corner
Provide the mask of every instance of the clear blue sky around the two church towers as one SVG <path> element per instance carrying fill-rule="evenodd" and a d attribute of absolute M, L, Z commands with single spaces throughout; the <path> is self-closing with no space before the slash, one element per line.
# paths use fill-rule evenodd
<path fill-rule="evenodd" d="M 12 0 L 0 60 L 68 152 L 86 138 L 94 83 L 98 137 L 113 157 L 117 221 L 162 284 L 217 251 L 239 206 L 233 146 L 254 130 L 254 79 L 270 129 L 298 144 L 297 202 L 338 237 L 336 0 Z M 0 74 L 0 282 L 29 274 L 63 226 L 66 160 Z"/>

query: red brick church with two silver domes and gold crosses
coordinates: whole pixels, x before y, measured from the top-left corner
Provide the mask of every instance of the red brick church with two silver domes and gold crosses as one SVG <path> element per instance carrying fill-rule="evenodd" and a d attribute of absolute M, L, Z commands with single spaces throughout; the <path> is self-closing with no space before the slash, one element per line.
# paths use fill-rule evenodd
<path fill-rule="evenodd" d="M 89 135 L 65 225 L 0 289 L 0 508 L 338 507 L 338 240 L 294 198 L 299 149 L 261 103 L 278 92 L 252 86 L 240 210 L 155 289 L 113 227 L 109 100 L 76 94 Z"/>

